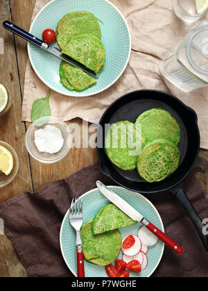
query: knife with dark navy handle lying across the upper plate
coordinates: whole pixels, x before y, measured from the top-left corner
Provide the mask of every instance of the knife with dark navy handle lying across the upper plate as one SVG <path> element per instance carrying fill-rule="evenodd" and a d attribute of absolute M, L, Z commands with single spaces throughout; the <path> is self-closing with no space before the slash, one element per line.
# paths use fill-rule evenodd
<path fill-rule="evenodd" d="M 64 60 L 65 62 L 75 67 L 78 67 L 79 69 L 82 69 L 85 73 L 93 76 L 94 78 L 98 78 L 99 76 L 98 73 L 95 72 L 93 69 L 90 69 L 89 67 L 83 65 L 77 60 L 74 60 L 70 56 L 67 56 L 66 54 L 62 53 L 60 49 L 56 47 L 52 47 L 49 44 L 46 44 L 46 42 L 43 42 L 42 40 L 35 37 L 31 33 L 28 33 L 27 31 L 24 31 L 22 28 L 19 28 L 15 24 L 12 24 L 12 22 L 9 22 L 6 20 L 5 22 L 3 22 L 3 28 L 6 28 L 8 31 L 11 31 L 12 33 L 15 33 L 16 35 L 19 35 L 21 38 L 24 38 L 24 40 L 27 40 L 28 42 L 36 44 L 37 47 L 40 47 L 41 49 L 44 49 L 45 51 L 52 53 L 53 56 L 56 56 L 60 58 L 61 60 Z"/>

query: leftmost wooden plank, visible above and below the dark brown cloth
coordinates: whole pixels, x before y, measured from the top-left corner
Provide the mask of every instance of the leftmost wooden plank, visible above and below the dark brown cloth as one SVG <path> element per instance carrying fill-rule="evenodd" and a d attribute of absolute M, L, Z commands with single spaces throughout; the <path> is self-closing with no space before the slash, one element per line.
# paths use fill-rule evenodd
<path fill-rule="evenodd" d="M 1 0 L 0 23 L 11 20 L 10 3 Z M 0 119 L 1 140 L 8 142 L 17 151 L 19 157 L 19 171 L 12 183 L 0 191 L 0 203 L 24 190 L 32 191 L 31 171 L 28 153 L 24 145 L 25 126 L 21 123 L 21 94 L 15 54 L 15 44 L 12 33 L 0 26 L 0 35 L 3 39 L 3 54 L 0 54 L 0 81 L 10 89 L 13 106 L 10 111 Z M 2 44 L 2 42 L 1 42 Z M 1 49 L 2 51 L 2 49 Z M 0 276 L 27 276 L 12 243 L 6 235 L 0 235 Z"/>

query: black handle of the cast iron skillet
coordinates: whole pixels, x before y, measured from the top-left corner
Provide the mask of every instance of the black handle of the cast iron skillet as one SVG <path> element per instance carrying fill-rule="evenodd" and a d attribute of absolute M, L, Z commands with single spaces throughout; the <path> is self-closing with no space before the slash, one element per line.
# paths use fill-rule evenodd
<path fill-rule="evenodd" d="M 187 194 L 184 192 L 184 190 L 178 190 L 175 193 L 175 196 L 180 201 L 180 203 L 182 203 L 184 209 L 187 210 L 187 214 L 191 218 L 196 228 L 196 231 L 198 232 L 198 235 L 202 241 L 202 244 L 204 244 L 204 247 L 208 252 L 208 234 L 206 232 L 205 225 L 202 223 L 202 219 L 200 219 L 198 213 L 196 213 L 195 208 L 193 208 L 193 205 L 189 201 L 189 198 L 187 197 Z"/>

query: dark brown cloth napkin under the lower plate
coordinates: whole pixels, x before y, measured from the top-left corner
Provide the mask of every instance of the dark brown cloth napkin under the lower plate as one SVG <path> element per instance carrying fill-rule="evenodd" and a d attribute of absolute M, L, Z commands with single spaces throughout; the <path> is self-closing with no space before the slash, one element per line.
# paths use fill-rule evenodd
<path fill-rule="evenodd" d="M 1 203 L 0 217 L 5 224 L 5 233 L 12 240 L 28 276 L 73 276 L 60 251 L 60 226 L 72 197 L 96 188 L 96 180 L 114 185 L 110 178 L 101 174 L 96 164 L 38 192 L 25 192 Z M 208 201 L 193 173 L 189 174 L 184 188 L 200 217 L 208 217 Z M 159 211 L 166 234 L 184 248 L 184 253 L 177 255 L 165 247 L 153 276 L 208 276 L 208 253 L 180 203 L 170 193 L 146 197 Z"/>

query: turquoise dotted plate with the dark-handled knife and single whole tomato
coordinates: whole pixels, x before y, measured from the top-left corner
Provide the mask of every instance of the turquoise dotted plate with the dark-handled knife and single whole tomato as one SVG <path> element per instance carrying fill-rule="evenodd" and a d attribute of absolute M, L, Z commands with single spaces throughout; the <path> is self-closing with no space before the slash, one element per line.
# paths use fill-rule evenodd
<path fill-rule="evenodd" d="M 60 83 L 60 59 L 28 43 L 28 56 L 37 76 L 52 90 L 72 97 L 98 94 L 114 84 L 123 73 L 130 58 L 131 39 L 128 24 L 119 10 L 107 0 L 53 0 L 35 17 L 30 33 L 42 39 L 42 31 L 54 31 L 60 19 L 70 11 L 84 10 L 101 19 L 101 40 L 105 46 L 105 67 L 97 84 L 83 92 L 70 91 Z M 58 47 L 58 44 L 53 44 Z"/>

